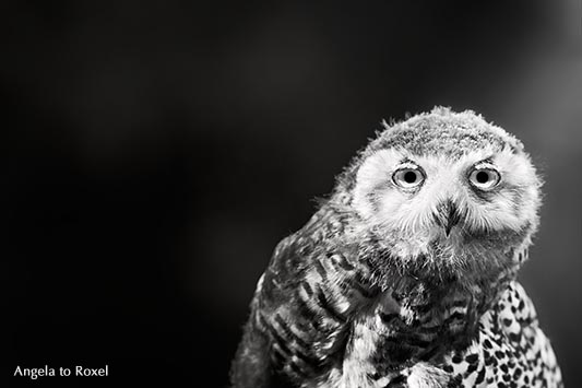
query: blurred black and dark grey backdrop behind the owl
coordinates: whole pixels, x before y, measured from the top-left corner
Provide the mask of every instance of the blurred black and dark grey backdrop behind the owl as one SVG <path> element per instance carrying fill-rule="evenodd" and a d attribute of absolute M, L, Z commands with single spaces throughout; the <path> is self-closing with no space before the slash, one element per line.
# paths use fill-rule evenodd
<path fill-rule="evenodd" d="M 545 176 L 521 278 L 582 386 L 581 15 L 575 0 L 3 1 L 4 376 L 108 364 L 33 385 L 225 387 L 276 243 L 382 118 L 447 105 L 515 133 Z"/>

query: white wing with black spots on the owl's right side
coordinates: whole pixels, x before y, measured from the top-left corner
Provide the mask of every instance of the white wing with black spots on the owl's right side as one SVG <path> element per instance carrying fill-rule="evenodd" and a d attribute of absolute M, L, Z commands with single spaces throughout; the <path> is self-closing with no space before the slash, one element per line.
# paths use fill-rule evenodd
<path fill-rule="evenodd" d="M 478 340 L 447 364 L 465 387 L 509 387 L 509 381 L 516 387 L 563 387 L 551 344 L 518 282 L 482 317 Z"/>

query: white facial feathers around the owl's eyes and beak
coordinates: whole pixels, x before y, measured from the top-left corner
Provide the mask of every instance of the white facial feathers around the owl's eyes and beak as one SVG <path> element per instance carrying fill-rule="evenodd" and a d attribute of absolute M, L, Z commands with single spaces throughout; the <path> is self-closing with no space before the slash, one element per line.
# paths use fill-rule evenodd
<path fill-rule="evenodd" d="M 403 161 L 426 174 L 418 189 L 403 189 L 392 179 Z M 495 167 L 500 183 L 479 192 L 468 176 L 482 162 Z M 527 155 L 507 146 L 467 151 L 453 158 L 447 155 L 414 155 L 403 149 L 380 150 L 364 160 L 357 172 L 353 205 L 377 232 L 390 236 L 400 257 L 426 254 L 428 246 L 443 237 L 437 220 L 443 203 L 452 202 L 463 219 L 442 249 L 453 249 L 463 234 L 514 231 L 537 224 L 538 178 Z M 460 244 L 459 244 L 460 245 Z M 451 252 L 453 254 L 453 252 Z"/>

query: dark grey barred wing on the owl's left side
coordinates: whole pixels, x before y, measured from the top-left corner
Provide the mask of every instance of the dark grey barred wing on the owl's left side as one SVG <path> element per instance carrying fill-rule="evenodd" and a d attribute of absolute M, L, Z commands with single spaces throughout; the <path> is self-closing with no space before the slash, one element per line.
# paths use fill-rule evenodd
<path fill-rule="evenodd" d="M 373 291 L 355 252 L 338 243 L 342 217 L 323 207 L 275 248 L 235 357 L 235 387 L 274 386 L 277 375 L 313 378 L 343 357 L 354 302 Z"/>

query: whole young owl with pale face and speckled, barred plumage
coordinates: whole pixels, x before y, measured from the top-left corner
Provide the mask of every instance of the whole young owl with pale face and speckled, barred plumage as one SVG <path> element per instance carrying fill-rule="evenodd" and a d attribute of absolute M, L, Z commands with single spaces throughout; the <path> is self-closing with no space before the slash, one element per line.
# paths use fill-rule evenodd
<path fill-rule="evenodd" d="M 516 274 L 541 179 L 473 111 L 388 125 L 260 278 L 236 388 L 562 387 Z"/>

